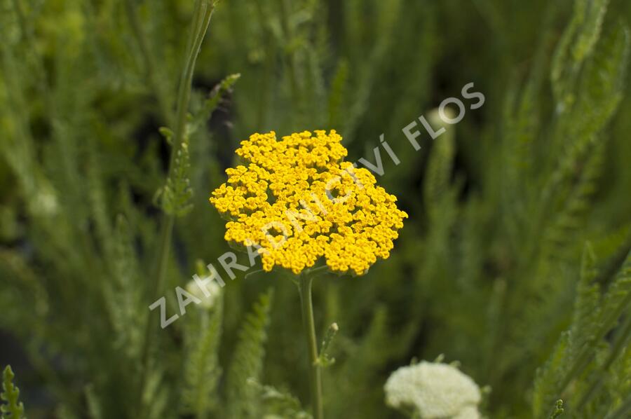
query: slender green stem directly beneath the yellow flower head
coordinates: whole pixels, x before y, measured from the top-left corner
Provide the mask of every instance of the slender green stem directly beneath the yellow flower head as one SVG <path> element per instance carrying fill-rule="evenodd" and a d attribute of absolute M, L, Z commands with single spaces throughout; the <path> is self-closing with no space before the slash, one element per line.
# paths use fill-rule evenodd
<path fill-rule="evenodd" d="M 311 301 L 311 284 L 313 278 L 300 275 L 298 289 L 302 306 L 302 323 L 309 357 L 309 382 L 311 387 L 311 408 L 313 419 L 323 419 L 322 404 L 322 370 L 318 364 L 318 344 L 315 338 L 315 322 L 313 321 L 313 302 Z"/>

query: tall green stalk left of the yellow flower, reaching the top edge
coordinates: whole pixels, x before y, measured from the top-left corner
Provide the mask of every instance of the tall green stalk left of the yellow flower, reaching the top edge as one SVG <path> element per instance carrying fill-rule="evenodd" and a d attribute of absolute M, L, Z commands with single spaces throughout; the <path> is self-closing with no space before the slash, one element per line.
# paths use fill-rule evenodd
<path fill-rule="evenodd" d="M 217 0 L 198 0 L 194 9 L 194 25 L 191 28 L 191 34 L 186 48 L 186 62 L 184 63 L 184 69 L 182 70 L 182 76 L 179 81 L 175 134 L 172 141 L 168 177 L 171 177 L 172 175 L 173 167 L 175 165 L 175 156 L 177 151 L 182 148 L 182 142 L 184 141 L 184 135 L 186 133 L 186 116 L 188 115 L 189 100 L 191 98 L 195 63 L 201 48 L 201 43 L 208 31 L 210 18 L 212 17 L 212 12 L 215 11 L 216 4 Z M 163 213 L 163 218 L 161 220 L 160 244 L 158 247 L 158 265 L 155 275 L 156 286 L 154 287 L 154 298 L 152 298 L 151 301 L 154 301 L 163 292 L 174 224 L 175 216 Z M 149 315 L 145 329 L 144 348 L 142 353 L 143 369 L 140 382 L 141 391 L 144 388 L 147 370 L 149 368 L 149 348 L 151 347 L 151 337 L 153 336 L 151 331 L 153 331 L 153 329 L 154 316 Z"/>

